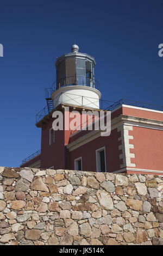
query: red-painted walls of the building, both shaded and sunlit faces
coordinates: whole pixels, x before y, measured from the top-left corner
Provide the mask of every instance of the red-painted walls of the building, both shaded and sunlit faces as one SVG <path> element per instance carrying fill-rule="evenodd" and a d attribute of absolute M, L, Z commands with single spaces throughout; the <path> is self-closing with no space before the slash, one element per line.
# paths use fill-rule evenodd
<path fill-rule="evenodd" d="M 68 112 L 69 114 L 70 112 Z M 161 113 L 128 107 L 119 108 L 112 112 L 111 119 L 121 114 L 163 121 Z M 117 132 L 117 129 L 112 130 L 110 136 L 98 137 L 69 152 L 68 150 L 65 151 L 65 145 L 76 141 L 76 139 L 91 131 L 80 131 L 72 137 L 70 137 L 71 130 L 55 131 L 54 143 L 49 145 L 49 129 L 52 128 L 53 120 L 49 120 L 42 127 L 41 168 L 54 166 L 54 169 L 74 169 L 74 160 L 82 156 L 83 170 L 96 171 L 96 149 L 105 147 L 107 172 L 120 170 L 120 164 L 123 163 L 123 160 L 119 157 L 122 150 L 118 149 L 118 145 L 121 144 L 118 137 L 121 136 L 121 132 Z M 136 163 L 135 168 L 163 170 L 163 131 L 133 126 L 133 131 L 129 130 L 129 135 L 134 136 L 134 139 L 131 139 L 129 143 L 134 144 L 134 149 L 130 149 L 130 153 L 135 154 L 135 159 L 131 158 L 131 163 Z M 40 158 L 40 156 L 38 157 Z M 28 164 L 37 160 L 37 157 L 35 157 Z M 25 163 L 23 166 L 27 166 L 27 164 Z"/>

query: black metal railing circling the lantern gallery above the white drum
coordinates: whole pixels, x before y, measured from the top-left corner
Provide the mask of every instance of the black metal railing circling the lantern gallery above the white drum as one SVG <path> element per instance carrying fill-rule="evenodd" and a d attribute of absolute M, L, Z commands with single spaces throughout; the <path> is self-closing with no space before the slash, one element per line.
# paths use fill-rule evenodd
<path fill-rule="evenodd" d="M 86 77 L 86 76 L 68 76 L 55 81 L 52 84 L 52 87 L 46 88 L 45 98 L 46 99 L 50 98 L 52 93 L 55 90 L 60 89 L 62 87 L 67 87 L 67 86 L 87 86 L 87 87 L 95 88 L 97 90 L 100 89 L 99 82 L 93 78 Z"/>

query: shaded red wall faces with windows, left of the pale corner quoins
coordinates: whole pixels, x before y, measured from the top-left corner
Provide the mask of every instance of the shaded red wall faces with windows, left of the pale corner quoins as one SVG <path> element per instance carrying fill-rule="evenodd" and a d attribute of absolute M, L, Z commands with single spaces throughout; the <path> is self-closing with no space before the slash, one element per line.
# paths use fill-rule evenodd
<path fill-rule="evenodd" d="M 70 112 L 68 112 L 68 114 L 70 114 Z M 120 114 L 122 114 L 122 108 L 119 108 L 117 111 L 111 113 L 111 118 L 115 118 Z M 90 131 L 78 132 L 73 137 L 70 137 L 71 130 L 55 131 L 55 142 L 54 144 L 49 145 L 49 129 L 52 127 L 52 122 L 53 120 L 49 121 L 48 124 L 42 127 L 41 168 L 49 168 L 54 166 L 54 169 L 74 169 L 74 160 L 82 156 L 83 170 L 96 171 L 96 149 L 105 147 L 107 172 L 120 169 L 122 160 L 119 159 L 119 154 L 121 154 L 121 151 L 118 150 L 118 145 L 121 144 L 121 142 L 118 142 L 118 137 L 120 137 L 120 134 L 118 134 L 117 129 L 111 131 L 111 135 L 108 137 L 98 137 L 71 152 L 66 150 L 65 156 L 65 145 Z M 65 158 L 67 159 L 66 167 Z"/>

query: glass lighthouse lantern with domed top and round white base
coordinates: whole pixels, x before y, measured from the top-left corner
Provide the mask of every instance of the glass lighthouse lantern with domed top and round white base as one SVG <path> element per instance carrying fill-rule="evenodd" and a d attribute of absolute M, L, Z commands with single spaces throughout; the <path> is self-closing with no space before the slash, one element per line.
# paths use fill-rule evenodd
<path fill-rule="evenodd" d="M 51 98 L 53 107 L 60 103 L 99 108 L 99 83 L 95 80 L 95 59 L 86 53 L 80 53 L 78 45 L 71 47 L 55 62 L 57 81 L 53 84 Z"/>

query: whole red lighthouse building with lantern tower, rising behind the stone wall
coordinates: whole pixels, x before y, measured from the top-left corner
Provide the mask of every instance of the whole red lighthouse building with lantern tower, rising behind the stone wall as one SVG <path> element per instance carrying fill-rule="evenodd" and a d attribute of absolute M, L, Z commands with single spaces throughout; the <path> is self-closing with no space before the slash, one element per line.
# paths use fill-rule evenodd
<path fill-rule="evenodd" d="M 163 107 L 101 100 L 95 59 L 78 50 L 73 45 L 71 53 L 56 60 L 57 82 L 46 90 L 47 107 L 36 119 L 42 130 L 41 150 L 21 167 L 163 175 Z M 109 136 L 101 136 L 100 130 L 52 128 L 55 111 L 62 112 L 65 122 L 67 114 L 72 120 L 72 111 L 78 111 L 82 118 L 82 111 L 102 109 L 111 111 Z"/>

